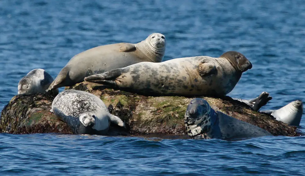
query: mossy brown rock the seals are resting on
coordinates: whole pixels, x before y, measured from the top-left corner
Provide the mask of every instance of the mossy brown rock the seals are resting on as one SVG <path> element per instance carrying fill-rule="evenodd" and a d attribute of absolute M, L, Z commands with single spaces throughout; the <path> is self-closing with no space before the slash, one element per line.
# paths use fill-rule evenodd
<path fill-rule="evenodd" d="M 100 97 L 108 106 L 109 112 L 125 122 L 126 130 L 111 126 L 109 135 L 188 138 L 183 119 L 186 107 L 193 97 L 147 97 L 100 88 L 102 86 L 90 82 L 66 87 Z M 303 135 L 296 127 L 277 121 L 266 113 L 255 112 L 248 105 L 231 97 L 203 98 L 215 110 L 261 127 L 275 136 Z M 48 94 L 16 95 L 1 112 L 1 132 L 72 134 L 72 130 L 49 111 L 53 99 L 54 97 Z"/>

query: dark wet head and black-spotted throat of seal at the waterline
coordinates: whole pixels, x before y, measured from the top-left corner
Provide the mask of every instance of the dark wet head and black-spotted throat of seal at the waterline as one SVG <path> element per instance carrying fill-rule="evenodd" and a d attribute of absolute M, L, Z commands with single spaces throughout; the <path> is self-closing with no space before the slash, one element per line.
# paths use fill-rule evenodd
<path fill-rule="evenodd" d="M 185 128 L 192 138 L 208 133 L 217 119 L 216 112 L 209 103 L 202 98 L 195 98 L 189 104 L 185 112 Z"/>

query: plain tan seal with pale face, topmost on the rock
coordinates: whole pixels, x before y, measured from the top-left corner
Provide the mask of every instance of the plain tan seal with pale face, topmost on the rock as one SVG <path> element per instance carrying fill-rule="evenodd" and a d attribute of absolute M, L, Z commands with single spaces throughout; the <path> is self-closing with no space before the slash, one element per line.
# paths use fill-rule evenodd
<path fill-rule="evenodd" d="M 152 33 L 145 40 L 133 43 L 115 43 L 97 46 L 83 51 L 61 69 L 49 86 L 53 90 L 83 82 L 89 75 L 123 68 L 139 62 L 161 62 L 165 53 L 166 39 L 163 34 Z"/>

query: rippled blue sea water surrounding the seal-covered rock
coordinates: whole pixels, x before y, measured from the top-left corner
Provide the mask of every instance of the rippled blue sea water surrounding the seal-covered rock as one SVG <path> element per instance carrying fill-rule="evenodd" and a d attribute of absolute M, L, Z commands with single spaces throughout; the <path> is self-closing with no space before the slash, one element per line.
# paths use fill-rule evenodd
<path fill-rule="evenodd" d="M 262 110 L 305 101 L 304 19 L 304 0 L 2 0 L 0 109 L 30 70 L 43 68 L 55 78 L 81 51 L 139 42 L 153 32 L 166 36 L 164 60 L 243 53 L 253 68 L 231 97 L 267 91 L 273 99 Z M 304 160 L 304 137 L 228 142 L 0 134 L 0 175 L 303 175 Z"/>

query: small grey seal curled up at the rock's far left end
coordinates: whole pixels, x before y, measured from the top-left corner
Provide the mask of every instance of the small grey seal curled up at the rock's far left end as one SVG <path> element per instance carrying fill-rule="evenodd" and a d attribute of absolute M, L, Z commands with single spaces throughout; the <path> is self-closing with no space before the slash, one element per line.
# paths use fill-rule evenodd
<path fill-rule="evenodd" d="M 54 79 L 44 69 L 31 70 L 18 83 L 18 94 L 33 95 L 45 93 Z M 58 89 L 52 91 L 53 95 L 58 94 Z"/>

